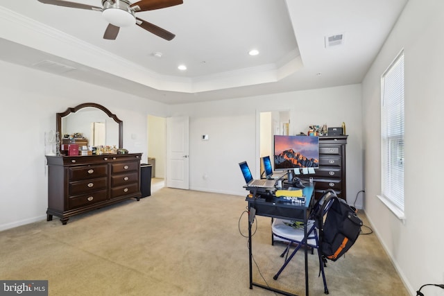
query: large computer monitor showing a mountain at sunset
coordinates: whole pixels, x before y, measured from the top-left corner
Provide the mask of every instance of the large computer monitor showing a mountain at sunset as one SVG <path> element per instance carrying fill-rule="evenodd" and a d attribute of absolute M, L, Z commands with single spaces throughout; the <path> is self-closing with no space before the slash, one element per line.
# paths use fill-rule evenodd
<path fill-rule="evenodd" d="M 319 167 L 319 137 L 274 136 L 275 171 Z"/>

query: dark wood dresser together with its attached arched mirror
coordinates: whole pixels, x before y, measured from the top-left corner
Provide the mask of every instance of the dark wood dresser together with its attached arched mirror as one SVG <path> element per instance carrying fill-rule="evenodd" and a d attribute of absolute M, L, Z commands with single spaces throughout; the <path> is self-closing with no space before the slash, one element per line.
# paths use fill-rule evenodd
<path fill-rule="evenodd" d="M 116 149 L 115 154 L 46 155 L 48 164 L 46 220 L 48 221 L 52 220 L 53 216 L 58 216 L 65 225 L 71 216 L 129 198 L 139 200 L 142 197 L 140 191 L 142 153 L 127 153 L 127 150 L 123 149 L 123 121 L 96 103 L 83 103 L 56 114 L 56 128 L 60 137 L 62 134 L 69 134 L 66 128 L 70 127 L 76 130 L 74 138 L 81 138 L 81 141 L 86 143 L 88 137 L 83 138 L 81 135 L 88 134 L 88 129 L 95 123 L 94 121 L 105 123 L 103 125 L 106 139 L 103 139 L 104 142 L 100 145 L 111 146 L 118 142 L 119 149 Z M 123 150 L 126 153 L 117 154 Z"/>

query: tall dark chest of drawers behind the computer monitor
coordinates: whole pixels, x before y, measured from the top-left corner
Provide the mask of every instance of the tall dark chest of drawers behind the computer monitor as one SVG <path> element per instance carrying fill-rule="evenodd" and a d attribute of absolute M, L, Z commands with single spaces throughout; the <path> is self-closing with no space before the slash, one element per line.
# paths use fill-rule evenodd
<path fill-rule="evenodd" d="M 321 198 L 327 189 L 347 200 L 345 182 L 345 145 L 347 135 L 319 137 L 319 168 L 315 169 L 313 182 L 316 182 L 314 196 Z M 305 178 L 304 178 L 305 179 Z"/>

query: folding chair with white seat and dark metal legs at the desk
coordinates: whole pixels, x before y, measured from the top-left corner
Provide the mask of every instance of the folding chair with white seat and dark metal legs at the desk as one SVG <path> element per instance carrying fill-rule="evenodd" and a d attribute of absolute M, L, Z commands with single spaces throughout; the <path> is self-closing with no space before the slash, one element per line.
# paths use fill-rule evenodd
<path fill-rule="evenodd" d="M 307 220 L 307 237 L 304 236 L 303 223 L 297 223 L 295 221 L 283 220 L 283 219 L 273 220 L 273 224 L 271 225 L 273 240 L 284 241 L 288 243 L 284 252 L 282 252 L 282 254 L 280 255 L 281 257 L 284 257 L 284 255 L 286 255 L 284 265 L 282 265 L 282 267 L 280 268 L 278 273 L 276 273 L 273 279 L 278 279 L 281 272 L 285 269 L 285 267 L 291 261 L 293 256 L 296 254 L 296 252 L 298 252 L 300 247 L 311 247 L 311 250 L 316 249 L 318 252 L 319 269 L 323 278 L 324 293 L 328 294 L 327 281 L 325 281 L 325 272 L 324 272 L 325 263 L 323 260 L 323 256 L 321 254 L 321 250 L 319 250 L 320 246 L 318 239 L 318 229 L 317 229 L 318 225 L 316 222 L 316 217 L 318 217 L 318 215 L 321 215 L 321 217 L 323 218 L 325 217 L 328 210 L 332 206 L 332 202 L 330 199 L 332 195 L 336 195 L 336 193 L 334 193 L 334 191 L 332 191 L 331 189 L 325 191 L 323 196 L 316 202 L 313 209 L 311 209 L 311 212 L 309 214 L 309 219 Z M 327 202 L 327 204 L 325 204 L 325 207 L 323 207 L 323 204 L 325 202 Z M 320 211 L 322 212 L 320 213 Z M 296 244 L 296 248 L 289 256 L 290 247 L 291 245 L 294 244 Z"/>

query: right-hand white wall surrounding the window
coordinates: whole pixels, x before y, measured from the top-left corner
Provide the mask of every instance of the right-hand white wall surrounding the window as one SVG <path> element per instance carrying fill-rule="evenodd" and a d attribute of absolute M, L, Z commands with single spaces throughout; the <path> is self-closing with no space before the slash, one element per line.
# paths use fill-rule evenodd
<path fill-rule="evenodd" d="M 442 209 L 444 125 L 444 1 L 410 0 L 367 73 L 363 89 L 365 209 L 375 233 L 412 295 L 422 284 L 444 282 Z M 404 49 L 406 220 L 376 197 L 381 191 L 380 77 Z M 427 288 L 427 295 L 443 290 Z"/>

